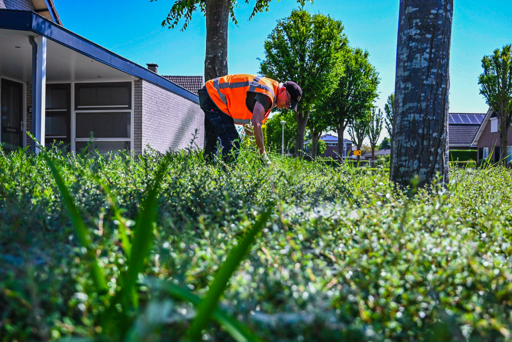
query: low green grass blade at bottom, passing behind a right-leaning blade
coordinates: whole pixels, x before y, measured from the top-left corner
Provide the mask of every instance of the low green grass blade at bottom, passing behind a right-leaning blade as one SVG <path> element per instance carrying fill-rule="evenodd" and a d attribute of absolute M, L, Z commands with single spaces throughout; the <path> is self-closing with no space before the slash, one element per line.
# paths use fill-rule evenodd
<path fill-rule="evenodd" d="M 201 298 L 194 293 L 191 293 L 185 288 L 178 287 L 174 284 L 166 284 L 162 290 L 170 296 L 192 303 L 194 306 L 199 306 Z M 260 342 L 261 339 L 254 335 L 246 326 L 238 322 L 238 320 L 230 317 L 223 310 L 217 308 L 211 316 L 227 331 L 231 337 L 237 342 Z"/>

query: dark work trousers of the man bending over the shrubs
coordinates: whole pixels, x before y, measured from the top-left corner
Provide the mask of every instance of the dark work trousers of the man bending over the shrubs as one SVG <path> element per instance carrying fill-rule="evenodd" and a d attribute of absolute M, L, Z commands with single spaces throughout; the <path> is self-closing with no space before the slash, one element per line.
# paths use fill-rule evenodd
<path fill-rule="evenodd" d="M 220 144 L 222 160 L 226 164 L 236 161 L 240 151 L 240 136 L 233 118 L 217 108 L 206 87 L 199 90 L 199 103 L 204 112 L 204 159 L 215 162 Z"/>

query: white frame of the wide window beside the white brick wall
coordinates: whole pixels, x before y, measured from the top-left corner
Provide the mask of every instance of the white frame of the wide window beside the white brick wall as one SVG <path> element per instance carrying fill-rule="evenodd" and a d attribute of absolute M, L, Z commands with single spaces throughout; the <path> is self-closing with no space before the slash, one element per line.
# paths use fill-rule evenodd
<path fill-rule="evenodd" d="M 76 114 L 77 113 L 119 113 L 119 112 L 125 112 L 130 113 L 130 138 L 93 138 L 92 141 L 129 141 L 130 142 L 130 153 L 133 153 L 134 151 L 134 122 L 135 122 L 135 80 L 130 81 L 80 81 L 80 82 L 72 82 L 71 87 L 71 151 L 76 153 L 76 142 L 88 142 L 91 141 L 91 138 L 77 138 L 76 137 Z M 105 87 L 113 84 L 119 84 L 124 83 L 128 84 L 130 83 L 130 103 L 129 108 L 120 108 L 119 106 L 115 107 L 106 107 L 106 106 L 100 106 L 100 107 L 94 107 L 94 108 L 87 108 L 87 109 L 78 109 L 76 104 L 76 90 L 79 89 L 80 84 L 82 83 L 103 83 L 105 84 Z"/>

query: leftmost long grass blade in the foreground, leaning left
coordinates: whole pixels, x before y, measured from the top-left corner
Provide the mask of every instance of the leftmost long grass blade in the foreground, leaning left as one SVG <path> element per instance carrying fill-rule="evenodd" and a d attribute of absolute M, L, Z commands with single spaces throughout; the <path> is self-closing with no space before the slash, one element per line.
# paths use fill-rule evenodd
<path fill-rule="evenodd" d="M 62 179 L 62 176 L 57 171 L 57 168 L 51 161 L 50 157 L 48 157 L 46 154 L 43 154 L 42 158 L 45 159 L 47 164 L 50 166 L 50 169 L 52 170 L 53 178 L 55 179 L 55 183 L 59 188 L 64 205 L 68 210 L 71 223 L 75 228 L 78 241 L 87 250 L 87 257 L 88 261 L 91 263 L 91 274 L 93 277 L 94 285 L 96 286 L 96 290 L 99 293 L 104 293 L 108 291 L 108 287 L 106 286 L 105 276 L 103 275 L 103 272 L 99 267 L 98 262 L 96 261 L 96 255 L 94 251 L 90 248 L 92 240 L 89 231 L 87 230 L 86 225 L 83 223 L 83 219 L 80 215 L 80 212 L 78 211 L 78 208 L 75 205 L 75 201 L 71 197 L 71 194 L 69 193 L 69 190 L 66 187 L 64 180 Z"/>

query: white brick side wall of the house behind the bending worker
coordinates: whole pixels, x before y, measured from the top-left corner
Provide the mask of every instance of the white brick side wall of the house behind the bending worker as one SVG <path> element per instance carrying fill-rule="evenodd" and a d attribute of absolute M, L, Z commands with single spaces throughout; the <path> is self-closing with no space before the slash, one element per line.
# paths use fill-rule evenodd
<path fill-rule="evenodd" d="M 138 146 L 144 149 L 147 144 L 160 152 L 186 148 L 196 130 L 194 147 L 203 148 L 204 113 L 196 102 L 139 80 L 135 82 L 134 114 L 135 153 L 140 153 Z"/>

